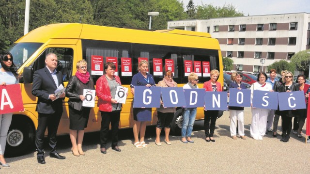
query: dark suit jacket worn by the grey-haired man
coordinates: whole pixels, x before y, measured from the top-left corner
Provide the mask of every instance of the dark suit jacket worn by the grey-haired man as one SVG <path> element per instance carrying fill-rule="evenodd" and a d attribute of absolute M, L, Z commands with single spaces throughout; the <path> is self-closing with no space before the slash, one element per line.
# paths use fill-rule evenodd
<path fill-rule="evenodd" d="M 62 73 L 57 71 L 58 86 L 62 84 Z M 39 113 L 62 113 L 62 98 L 55 101 L 48 99 L 50 94 L 55 94 L 57 86 L 47 67 L 39 69 L 33 74 L 32 95 L 38 97 L 36 111 Z"/>

